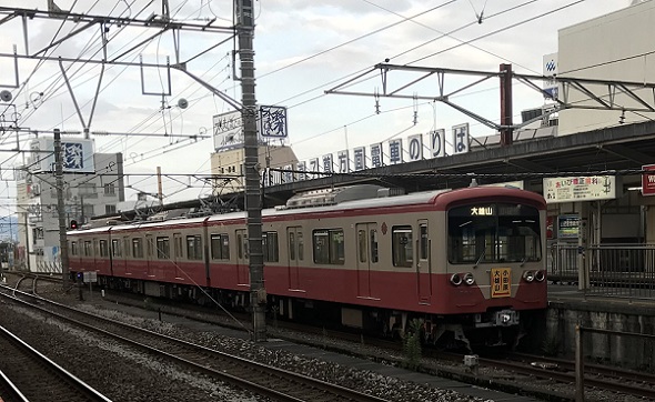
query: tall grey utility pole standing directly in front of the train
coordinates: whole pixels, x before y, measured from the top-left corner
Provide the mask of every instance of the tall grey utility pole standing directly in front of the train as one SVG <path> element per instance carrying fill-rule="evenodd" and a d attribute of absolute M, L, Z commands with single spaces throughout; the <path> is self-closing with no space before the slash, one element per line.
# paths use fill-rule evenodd
<path fill-rule="evenodd" d="M 248 248 L 250 257 L 250 302 L 252 305 L 252 340 L 266 340 L 266 290 L 262 253 L 262 205 L 260 199 L 259 141 L 256 99 L 254 96 L 254 20 L 252 0 L 236 0 L 236 31 L 241 60 L 241 119 L 245 161 L 245 210 L 248 212 Z"/>

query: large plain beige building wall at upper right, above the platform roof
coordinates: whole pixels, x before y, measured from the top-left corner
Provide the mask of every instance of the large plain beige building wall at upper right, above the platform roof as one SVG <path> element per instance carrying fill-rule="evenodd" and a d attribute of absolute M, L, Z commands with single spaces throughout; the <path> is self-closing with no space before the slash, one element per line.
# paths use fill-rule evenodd
<path fill-rule="evenodd" d="M 655 37 L 653 21 L 655 1 L 647 1 L 560 30 L 558 76 L 655 82 L 655 54 L 652 53 Z M 606 87 L 590 88 L 594 88 L 595 93 L 607 93 Z M 638 93 L 653 105 L 651 90 L 642 90 Z M 563 96 L 563 88 L 560 87 L 560 98 Z M 575 91 L 570 91 L 570 102 L 587 99 Z M 582 103 L 598 105 L 591 101 Z M 631 107 L 638 104 L 623 94 L 616 97 L 616 103 Z M 560 112 L 558 134 L 567 135 L 617 125 L 621 114 L 621 111 L 565 110 Z M 626 112 L 625 122 L 654 118 L 653 113 L 642 114 Z"/>

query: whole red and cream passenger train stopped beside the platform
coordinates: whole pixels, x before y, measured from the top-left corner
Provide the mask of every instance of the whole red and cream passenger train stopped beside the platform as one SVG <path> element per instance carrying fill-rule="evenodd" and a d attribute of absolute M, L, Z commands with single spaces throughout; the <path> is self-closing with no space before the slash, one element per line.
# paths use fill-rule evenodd
<path fill-rule="evenodd" d="M 546 306 L 537 193 L 473 187 L 379 197 L 355 185 L 262 211 L 269 311 L 427 340 L 497 340 Z M 70 271 L 154 297 L 249 304 L 244 212 L 68 232 Z M 211 297 L 211 299 L 210 299 Z M 447 339 L 447 336 L 445 336 Z"/>

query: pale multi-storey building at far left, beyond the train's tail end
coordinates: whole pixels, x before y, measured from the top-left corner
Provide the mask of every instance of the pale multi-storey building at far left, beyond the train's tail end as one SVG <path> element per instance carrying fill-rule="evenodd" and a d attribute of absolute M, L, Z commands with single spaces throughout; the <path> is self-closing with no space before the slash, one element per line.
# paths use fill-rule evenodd
<path fill-rule="evenodd" d="M 63 139 L 63 211 L 58 209 L 52 140 L 32 143 L 33 153 L 18 175 L 19 255 L 34 272 L 61 272 L 59 217 L 80 225 L 93 215 L 117 212 L 124 201 L 121 153 L 93 153 L 92 140 Z M 77 147 L 81 144 L 80 147 Z M 70 150 L 75 148 L 74 158 Z"/>

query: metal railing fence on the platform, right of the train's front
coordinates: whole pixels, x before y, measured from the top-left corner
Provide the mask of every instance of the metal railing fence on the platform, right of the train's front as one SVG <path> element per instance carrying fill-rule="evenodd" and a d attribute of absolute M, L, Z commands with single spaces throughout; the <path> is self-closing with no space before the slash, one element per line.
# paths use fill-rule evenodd
<path fill-rule="evenodd" d="M 560 243 L 550 248 L 547 257 L 548 280 L 554 283 L 580 284 L 578 265 L 584 263 L 588 269 L 588 279 L 582 283 L 586 294 L 655 297 L 655 244 L 599 244 L 583 250 Z"/>

